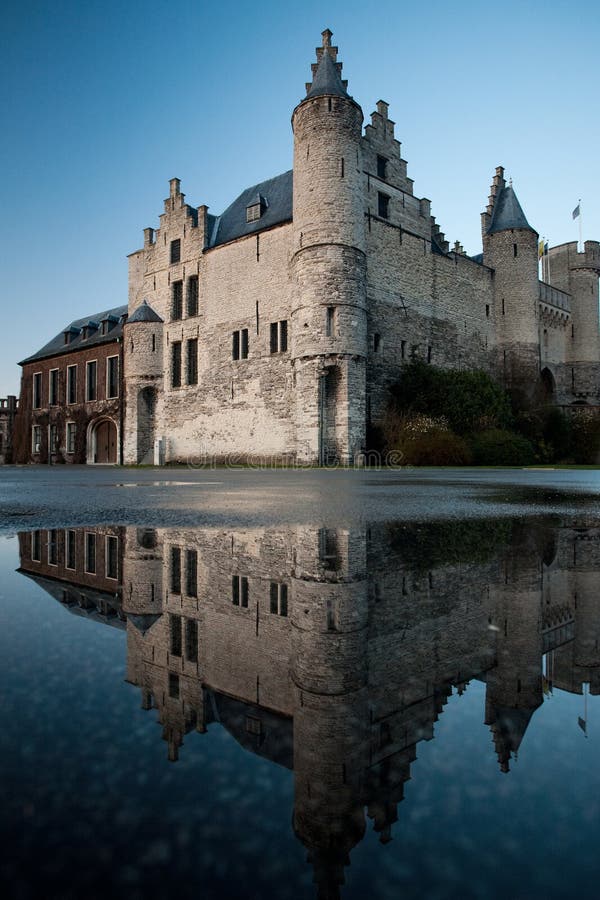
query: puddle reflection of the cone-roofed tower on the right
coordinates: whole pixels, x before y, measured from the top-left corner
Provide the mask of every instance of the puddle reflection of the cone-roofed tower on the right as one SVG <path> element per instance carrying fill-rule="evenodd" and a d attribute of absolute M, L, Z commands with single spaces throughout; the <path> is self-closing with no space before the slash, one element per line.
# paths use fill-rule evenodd
<path fill-rule="evenodd" d="M 541 561 L 531 535 L 523 529 L 513 538 L 521 549 L 504 561 L 505 583 L 497 588 L 490 627 L 496 635 L 496 665 L 487 674 L 486 725 L 491 726 L 503 772 L 516 754 L 541 705 L 542 616 Z M 512 548 L 511 548 L 512 550 Z"/>

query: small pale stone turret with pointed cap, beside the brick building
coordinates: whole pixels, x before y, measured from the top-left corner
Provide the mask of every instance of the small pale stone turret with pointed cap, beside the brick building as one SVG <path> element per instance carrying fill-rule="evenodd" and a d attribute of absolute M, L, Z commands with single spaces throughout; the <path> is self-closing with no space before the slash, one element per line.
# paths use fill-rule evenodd
<path fill-rule="evenodd" d="M 155 458 L 157 406 L 163 395 L 163 320 L 144 300 L 127 319 L 123 336 L 126 465 Z"/>

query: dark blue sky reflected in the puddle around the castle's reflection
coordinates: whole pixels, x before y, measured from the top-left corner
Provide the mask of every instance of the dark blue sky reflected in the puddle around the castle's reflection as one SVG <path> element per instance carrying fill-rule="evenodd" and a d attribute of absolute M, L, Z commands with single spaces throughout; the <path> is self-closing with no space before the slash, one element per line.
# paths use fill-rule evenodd
<path fill-rule="evenodd" d="M 156 712 L 142 711 L 124 681 L 124 632 L 69 614 L 17 565 L 16 540 L 0 539 L 9 878 L 36 859 L 51 885 L 75 886 L 74 897 L 110 873 L 123 894 L 159 890 L 168 876 L 183 897 L 313 898 L 291 826 L 293 774 L 217 725 L 186 736 L 179 762 L 167 763 Z M 504 775 L 484 694 L 477 681 L 455 693 L 434 739 L 418 744 L 394 840 L 381 846 L 368 826 L 344 900 L 595 895 L 598 698 L 588 698 L 586 740 L 583 697 L 555 690 Z"/>

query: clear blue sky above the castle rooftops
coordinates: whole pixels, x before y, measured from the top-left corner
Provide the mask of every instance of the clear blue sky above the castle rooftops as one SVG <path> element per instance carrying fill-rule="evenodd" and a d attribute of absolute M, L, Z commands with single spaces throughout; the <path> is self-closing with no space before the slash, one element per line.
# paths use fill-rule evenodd
<path fill-rule="evenodd" d="M 552 244 L 600 239 L 596 2 L 55 0 L 3 12 L 0 396 L 72 319 L 127 302 L 171 177 L 220 213 L 292 163 L 324 28 L 446 237 L 480 250 L 497 165 Z"/>

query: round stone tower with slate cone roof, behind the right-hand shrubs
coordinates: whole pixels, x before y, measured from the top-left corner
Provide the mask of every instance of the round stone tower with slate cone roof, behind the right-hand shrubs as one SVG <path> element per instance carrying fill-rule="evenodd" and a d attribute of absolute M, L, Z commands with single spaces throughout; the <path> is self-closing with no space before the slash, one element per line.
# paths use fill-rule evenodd
<path fill-rule="evenodd" d="M 538 238 L 498 166 L 481 215 L 483 262 L 494 269 L 499 370 L 509 387 L 539 377 Z"/>

